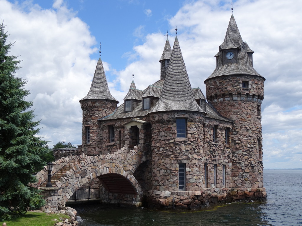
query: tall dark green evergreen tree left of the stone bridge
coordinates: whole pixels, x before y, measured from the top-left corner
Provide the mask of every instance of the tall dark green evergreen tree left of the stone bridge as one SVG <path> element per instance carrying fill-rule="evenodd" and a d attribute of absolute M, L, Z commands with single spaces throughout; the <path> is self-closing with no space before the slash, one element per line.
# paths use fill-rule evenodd
<path fill-rule="evenodd" d="M 36 137 L 39 121 L 34 121 L 33 102 L 25 97 L 25 81 L 14 77 L 20 63 L 9 56 L 12 44 L 7 42 L 3 20 L 0 24 L 0 221 L 20 216 L 28 209 L 40 208 L 43 197 L 29 184 L 35 167 L 42 167 L 39 154 L 45 152 L 46 141 Z"/>

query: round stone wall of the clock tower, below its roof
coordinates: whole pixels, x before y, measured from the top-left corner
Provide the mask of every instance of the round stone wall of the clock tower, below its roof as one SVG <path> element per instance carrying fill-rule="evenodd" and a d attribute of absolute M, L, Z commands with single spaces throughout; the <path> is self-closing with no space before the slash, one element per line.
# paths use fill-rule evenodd
<path fill-rule="evenodd" d="M 242 81 L 248 87 L 242 87 Z M 253 76 L 218 77 L 206 81 L 207 98 L 233 120 L 230 187 L 263 188 L 261 103 L 264 80 Z"/>

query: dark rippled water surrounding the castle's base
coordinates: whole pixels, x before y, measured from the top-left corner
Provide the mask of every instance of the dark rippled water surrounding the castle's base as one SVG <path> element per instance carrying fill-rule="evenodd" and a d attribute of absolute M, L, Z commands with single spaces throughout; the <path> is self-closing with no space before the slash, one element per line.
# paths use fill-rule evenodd
<path fill-rule="evenodd" d="M 265 203 L 231 203 L 202 211 L 159 211 L 107 205 L 72 206 L 80 226 L 302 225 L 302 169 L 265 169 Z"/>

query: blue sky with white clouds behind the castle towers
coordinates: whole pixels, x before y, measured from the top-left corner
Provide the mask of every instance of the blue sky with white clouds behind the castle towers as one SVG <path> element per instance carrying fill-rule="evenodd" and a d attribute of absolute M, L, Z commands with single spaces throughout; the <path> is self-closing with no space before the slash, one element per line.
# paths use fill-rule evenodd
<path fill-rule="evenodd" d="M 243 41 L 265 77 L 262 102 L 264 168 L 302 168 L 302 1 L 233 0 Z M 175 27 L 192 88 L 216 67 L 231 0 L 0 0 L 0 16 L 22 60 L 40 137 L 81 144 L 82 109 L 99 58 L 120 102 L 134 74 L 137 89 L 160 79 L 159 59 Z"/>

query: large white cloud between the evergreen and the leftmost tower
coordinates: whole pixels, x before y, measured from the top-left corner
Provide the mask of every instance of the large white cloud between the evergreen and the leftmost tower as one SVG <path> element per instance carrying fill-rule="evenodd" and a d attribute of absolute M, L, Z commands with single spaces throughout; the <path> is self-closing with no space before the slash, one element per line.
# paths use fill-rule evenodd
<path fill-rule="evenodd" d="M 51 140 L 50 147 L 59 141 L 80 144 L 79 99 L 87 94 L 96 65 L 89 58 L 95 38 L 87 24 L 62 1 L 47 10 L 3 0 L 0 5 L 9 41 L 15 42 L 11 54 L 23 59 L 17 76 L 28 80 L 28 100 L 34 101 L 36 120 L 42 119 L 39 136 Z"/>

